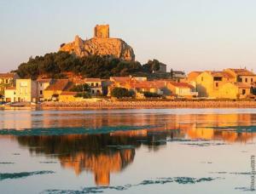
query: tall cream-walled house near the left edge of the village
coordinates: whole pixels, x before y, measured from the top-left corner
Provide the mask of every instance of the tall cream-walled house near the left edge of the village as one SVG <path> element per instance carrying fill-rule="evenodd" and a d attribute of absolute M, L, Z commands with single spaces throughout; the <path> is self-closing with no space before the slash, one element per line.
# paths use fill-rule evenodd
<path fill-rule="evenodd" d="M 32 79 L 16 79 L 15 101 L 36 102 L 37 83 Z"/>

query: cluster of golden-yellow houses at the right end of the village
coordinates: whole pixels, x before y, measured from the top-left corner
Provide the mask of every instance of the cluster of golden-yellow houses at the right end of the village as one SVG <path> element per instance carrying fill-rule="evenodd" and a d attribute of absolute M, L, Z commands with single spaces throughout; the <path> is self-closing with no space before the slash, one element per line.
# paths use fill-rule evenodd
<path fill-rule="evenodd" d="M 199 97 L 207 98 L 246 98 L 254 94 L 256 88 L 256 75 L 246 69 L 192 71 L 188 74 L 187 81 L 195 86 Z"/>

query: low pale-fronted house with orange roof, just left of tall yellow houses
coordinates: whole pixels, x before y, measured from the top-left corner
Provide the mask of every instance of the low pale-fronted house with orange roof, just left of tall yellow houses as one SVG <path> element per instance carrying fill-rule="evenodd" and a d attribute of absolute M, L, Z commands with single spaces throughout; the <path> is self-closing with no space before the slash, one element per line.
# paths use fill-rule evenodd
<path fill-rule="evenodd" d="M 189 83 L 175 83 L 169 82 L 167 83 L 167 88 L 172 91 L 172 94 L 175 94 L 177 97 L 196 97 L 198 95 L 195 92 L 195 87 Z"/>

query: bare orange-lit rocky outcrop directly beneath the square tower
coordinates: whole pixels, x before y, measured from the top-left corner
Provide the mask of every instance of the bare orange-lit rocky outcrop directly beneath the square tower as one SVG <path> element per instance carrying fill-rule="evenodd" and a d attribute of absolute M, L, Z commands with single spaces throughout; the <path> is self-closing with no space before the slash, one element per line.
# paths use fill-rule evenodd
<path fill-rule="evenodd" d="M 60 51 L 76 54 L 79 57 L 88 55 L 110 55 L 121 60 L 135 60 L 135 54 L 131 46 L 119 38 L 93 37 L 83 40 L 75 37 L 72 43 L 62 44 Z"/>

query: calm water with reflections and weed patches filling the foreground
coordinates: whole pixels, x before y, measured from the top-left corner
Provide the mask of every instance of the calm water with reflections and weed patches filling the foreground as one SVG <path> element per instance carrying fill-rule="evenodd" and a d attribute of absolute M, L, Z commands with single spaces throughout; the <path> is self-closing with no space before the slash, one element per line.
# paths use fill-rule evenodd
<path fill-rule="evenodd" d="M 0 111 L 0 193 L 254 192 L 256 109 Z"/>

